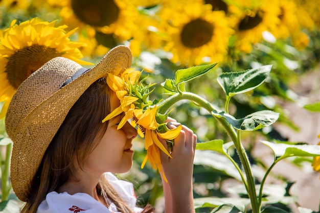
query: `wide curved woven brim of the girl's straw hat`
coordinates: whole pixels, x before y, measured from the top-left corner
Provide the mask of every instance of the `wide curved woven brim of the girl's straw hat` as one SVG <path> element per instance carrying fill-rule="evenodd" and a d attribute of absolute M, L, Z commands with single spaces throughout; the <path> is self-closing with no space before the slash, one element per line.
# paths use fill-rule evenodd
<path fill-rule="evenodd" d="M 129 68 L 131 60 L 129 48 L 123 45 L 113 48 L 96 66 L 35 106 L 23 120 L 11 122 L 10 113 L 14 113 L 14 110 L 10 110 L 9 106 L 6 115 L 6 128 L 10 125 L 10 129 L 15 129 L 11 134 L 8 133 L 13 140 L 11 183 L 13 191 L 21 201 L 28 200 L 31 182 L 39 168 L 44 152 L 71 107 L 91 84 L 106 77 L 108 73 Z M 33 75 L 36 75 L 36 72 Z M 17 93 L 21 87 L 23 88 L 23 84 L 17 89 Z M 12 100 L 15 99 L 18 98 L 13 97 Z M 18 103 L 19 100 L 14 102 Z"/>

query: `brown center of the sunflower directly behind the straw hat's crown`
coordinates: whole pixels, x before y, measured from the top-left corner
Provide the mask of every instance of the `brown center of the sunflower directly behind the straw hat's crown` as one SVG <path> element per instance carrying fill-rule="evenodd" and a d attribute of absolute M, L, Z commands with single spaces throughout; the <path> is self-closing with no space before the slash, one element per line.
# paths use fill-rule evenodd
<path fill-rule="evenodd" d="M 18 50 L 10 56 L 6 65 L 9 83 L 17 89 L 35 70 L 57 56 L 61 54 L 56 49 L 37 44 Z"/>

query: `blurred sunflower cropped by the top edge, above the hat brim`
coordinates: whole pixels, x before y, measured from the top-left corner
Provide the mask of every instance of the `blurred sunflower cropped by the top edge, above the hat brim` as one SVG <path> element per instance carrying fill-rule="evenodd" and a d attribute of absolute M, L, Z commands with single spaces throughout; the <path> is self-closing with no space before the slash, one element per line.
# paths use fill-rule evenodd
<path fill-rule="evenodd" d="M 60 15 L 68 26 L 93 27 L 123 41 L 137 29 L 134 18 L 138 11 L 127 0 L 69 0 Z"/>

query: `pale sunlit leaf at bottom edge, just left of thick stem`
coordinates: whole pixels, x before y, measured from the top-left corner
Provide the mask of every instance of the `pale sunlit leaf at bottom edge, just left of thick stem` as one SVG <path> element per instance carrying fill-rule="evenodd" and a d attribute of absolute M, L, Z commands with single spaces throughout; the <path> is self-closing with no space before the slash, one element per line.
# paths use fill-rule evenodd
<path fill-rule="evenodd" d="M 218 207 L 225 204 L 231 204 L 240 211 L 244 212 L 245 207 L 250 204 L 247 198 L 216 198 L 216 197 L 202 197 L 193 199 L 195 208 L 203 207 Z M 218 211 L 213 211 L 218 212 Z M 238 211 L 239 212 L 239 211 Z"/>

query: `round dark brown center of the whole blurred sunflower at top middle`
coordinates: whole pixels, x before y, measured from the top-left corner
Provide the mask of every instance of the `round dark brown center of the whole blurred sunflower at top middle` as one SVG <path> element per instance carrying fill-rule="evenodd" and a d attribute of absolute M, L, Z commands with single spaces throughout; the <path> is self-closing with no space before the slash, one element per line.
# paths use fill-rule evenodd
<path fill-rule="evenodd" d="M 195 19 L 181 31 L 181 42 L 189 48 L 198 48 L 208 43 L 213 36 L 213 26 L 208 21 Z"/>

